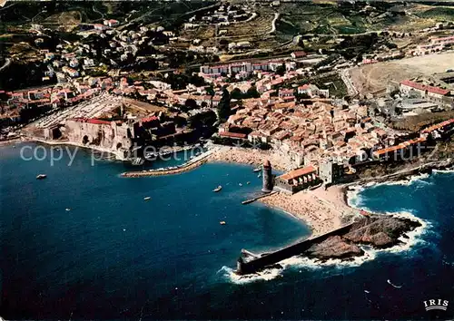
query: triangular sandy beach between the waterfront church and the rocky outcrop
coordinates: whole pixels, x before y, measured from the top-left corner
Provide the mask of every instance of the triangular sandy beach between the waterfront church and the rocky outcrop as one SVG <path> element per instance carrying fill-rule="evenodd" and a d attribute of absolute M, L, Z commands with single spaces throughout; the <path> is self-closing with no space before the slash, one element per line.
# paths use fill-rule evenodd
<path fill-rule="evenodd" d="M 313 237 L 341 228 L 347 217 L 355 213 L 355 209 L 345 203 L 341 186 L 301 190 L 293 195 L 280 192 L 261 201 L 303 220 L 312 229 Z"/>

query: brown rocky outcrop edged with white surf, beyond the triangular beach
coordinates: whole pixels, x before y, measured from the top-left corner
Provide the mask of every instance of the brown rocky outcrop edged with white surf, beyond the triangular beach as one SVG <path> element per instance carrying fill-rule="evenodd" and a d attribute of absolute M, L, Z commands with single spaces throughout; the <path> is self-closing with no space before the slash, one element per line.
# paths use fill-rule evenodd
<path fill-rule="evenodd" d="M 364 251 L 359 247 L 367 244 L 373 248 L 390 248 L 400 243 L 399 238 L 408 238 L 406 233 L 420 226 L 418 221 L 391 215 L 374 215 L 359 219 L 345 234 L 332 236 L 321 243 L 313 244 L 302 253 L 309 258 L 360 257 Z"/>

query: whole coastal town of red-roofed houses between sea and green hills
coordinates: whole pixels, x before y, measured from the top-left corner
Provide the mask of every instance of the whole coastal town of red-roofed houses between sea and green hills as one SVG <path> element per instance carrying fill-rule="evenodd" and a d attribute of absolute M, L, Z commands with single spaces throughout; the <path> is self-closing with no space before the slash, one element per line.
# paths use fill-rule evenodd
<path fill-rule="evenodd" d="M 275 34 L 279 7 L 279 2 L 257 4 L 259 15 L 252 5 L 202 6 L 193 15 L 184 15 L 178 30 L 174 25 L 167 30 L 161 24 L 145 24 L 141 17 L 80 23 L 67 26 L 76 39 L 71 42 L 56 34 L 54 25 L 47 26 L 48 19 L 22 25 L 28 28 L 22 33 L 33 42 L 14 44 L 17 53 L 4 57 L 3 68 L 11 71 L 15 65 L 9 63 L 30 55 L 30 49 L 16 48 L 26 44 L 43 66 L 42 74 L 28 89 L 3 81 L 2 139 L 68 142 L 134 161 L 144 155 L 133 151 L 147 144 L 209 139 L 214 145 L 272 149 L 280 155 L 275 165 L 281 170 L 312 169 L 317 178 L 333 183 L 361 163 L 389 157 L 384 151 L 403 152 L 429 143 L 427 131 L 415 139 L 415 131 L 400 130 L 399 123 L 439 120 L 444 125 L 430 131 L 430 138 L 441 139 L 439 131 L 450 132 L 451 21 L 411 33 L 383 30 L 358 39 L 336 35 L 335 45 L 323 50 L 312 48 L 320 36 L 296 34 L 278 57 L 271 53 L 246 58 L 268 49 L 252 50 L 257 48 L 252 39 L 231 42 L 232 32 L 271 11 L 269 34 Z M 374 11 L 367 5 L 363 9 Z M 405 39 L 405 45 L 392 43 L 393 38 L 398 44 Z M 341 48 L 360 41 L 373 44 L 347 59 Z M 199 63 L 185 63 L 184 57 L 179 61 L 183 53 L 197 57 Z M 373 71 L 382 64 L 386 69 L 390 63 L 429 57 L 445 61 L 447 68 L 408 78 L 402 73 L 400 79 L 380 83 L 379 90 L 375 89 L 380 80 L 361 83 L 363 68 L 372 66 Z M 279 185 L 295 191 L 294 185 L 302 180 L 289 177 Z"/>

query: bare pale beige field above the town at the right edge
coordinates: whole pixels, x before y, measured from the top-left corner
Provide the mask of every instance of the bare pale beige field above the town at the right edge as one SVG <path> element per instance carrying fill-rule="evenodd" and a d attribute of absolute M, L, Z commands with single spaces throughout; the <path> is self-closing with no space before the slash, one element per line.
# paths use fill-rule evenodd
<path fill-rule="evenodd" d="M 444 73 L 454 67 L 454 53 L 429 54 L 391 62 L 366 64 L 350 70 L 351 81 L 361 94 L 385 89 L 391 81 Z"/>

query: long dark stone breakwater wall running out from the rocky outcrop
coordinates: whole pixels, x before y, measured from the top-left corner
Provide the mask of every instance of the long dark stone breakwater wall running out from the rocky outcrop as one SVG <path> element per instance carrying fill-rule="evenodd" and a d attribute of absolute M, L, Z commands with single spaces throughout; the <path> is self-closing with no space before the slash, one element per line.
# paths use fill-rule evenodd
<path fill-rule="evenodd" d="M 257 255 L 253 255 L 252 259 L 249 261 L 245 261 L 242 257 L 238 258 L 237 261 L 237 270 L 236 273 L 239 275 L 245 274 L 252 274 L 257 271 L 262 270 L 268 266 L 272 266 L 280 262 L 283 259 L 294 257 L 295 255 L 299 255 L 308 248 L 311 248 L 313 244 L 320 243 L 327 238 L 332 236 L 341 235 L 350 231 L 351 226 L 353 223 L 342 227 L 341 229 L 334 229 L 328 233 L 325 233 L 321 236 L 315 238 L 305 239 L 301 242 L 292 244 L 288 247 L 278 249 L 277 251 L 263 254 L 261 257 Z M 242 254 L 249 254 L 250 252 L 242 249 Z"/>

